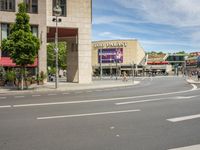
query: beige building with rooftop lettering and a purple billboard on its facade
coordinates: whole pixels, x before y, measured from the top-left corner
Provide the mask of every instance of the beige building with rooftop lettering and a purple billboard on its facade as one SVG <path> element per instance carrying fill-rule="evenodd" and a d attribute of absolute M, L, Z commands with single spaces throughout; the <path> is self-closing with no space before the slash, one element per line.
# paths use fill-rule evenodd
<path fill-rule="evenodd" d="M 93 75 L 142 75 L 145 52 L 137 40 L 108 40 L 92 42 Z"/>

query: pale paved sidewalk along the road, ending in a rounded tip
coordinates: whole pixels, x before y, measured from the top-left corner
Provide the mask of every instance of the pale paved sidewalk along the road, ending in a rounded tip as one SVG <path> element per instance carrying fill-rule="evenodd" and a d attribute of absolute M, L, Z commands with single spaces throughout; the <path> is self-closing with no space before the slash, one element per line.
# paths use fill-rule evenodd
<path fill-rule="evenodd" d="M 78 84 L 78 83 L 68 83 L 68 82 L 59 82 L 58 89 L 55 89 L 54 82 L 47 82 L 44 85 L 31 85 L 28 90 L 18 90 L 17 88 L 11 87 L 0 87 L 0 94 L 12 93 L 24 93 L 24 92 L 34 92 L 34 91 L 74 91 L 74 90 L 86 90 L 86 89 L 101 89 L 101 88 L 110 88 L 110 87 L 124 87 L 132 86 L 139 84 L 139 81 L 129 80 L 123 82 L 122 80 L 94 80 L 90 84 Z"/>

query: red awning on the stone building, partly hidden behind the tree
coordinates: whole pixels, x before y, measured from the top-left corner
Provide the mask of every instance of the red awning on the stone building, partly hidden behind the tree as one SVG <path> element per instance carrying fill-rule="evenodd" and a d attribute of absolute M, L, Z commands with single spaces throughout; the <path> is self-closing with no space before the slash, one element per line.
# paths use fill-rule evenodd
<path fill-rule="evenodd" d="M 35 59 L 34 64 L 28 65 L 27 67 L 37 67 L 38 59 Z M 0 66 L 3 67 L 17 67 L 17 65 L 13 62 L 10 57 L 0 57 Z"/>

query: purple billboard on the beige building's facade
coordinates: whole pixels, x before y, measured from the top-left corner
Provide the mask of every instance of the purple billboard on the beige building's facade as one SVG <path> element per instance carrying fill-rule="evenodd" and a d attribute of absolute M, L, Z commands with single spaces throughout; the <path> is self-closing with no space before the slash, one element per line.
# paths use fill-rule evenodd
<path fill-rule="evenodd" d="M 123 48 L 98 49 L 98 63 L 123 63 Z"/>

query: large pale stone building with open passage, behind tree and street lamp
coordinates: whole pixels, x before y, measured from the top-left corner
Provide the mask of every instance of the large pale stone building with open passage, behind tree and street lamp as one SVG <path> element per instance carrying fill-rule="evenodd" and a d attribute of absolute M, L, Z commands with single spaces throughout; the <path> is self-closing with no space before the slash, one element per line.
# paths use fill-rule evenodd
<path fill-rule="evenodd" d="M 47 42 L 55 40 L 53 8 L 57 0 L 0 0 L 0 41 L 7 38 L 9 27 L 15 21 L 17 5 L 26 2 L 32 32 L 40 39 L 38 69 L 47 70 Z M 62 14 L 58 23 L 58 40 L 68 43 L 67 80 L 91 82 L 91 21 L 92 0 L 58 0 Z M 1 53 L 2 59 L 5 54 Z"/>

